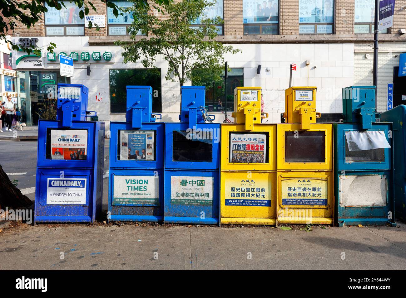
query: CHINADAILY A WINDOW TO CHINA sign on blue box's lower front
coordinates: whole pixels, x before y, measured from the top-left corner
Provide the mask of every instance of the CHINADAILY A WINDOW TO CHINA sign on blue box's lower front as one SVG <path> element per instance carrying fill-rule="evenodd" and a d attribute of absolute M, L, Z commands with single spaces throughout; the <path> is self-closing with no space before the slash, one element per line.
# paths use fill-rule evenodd
<path fill-rule="evenodd" d="M 48 178 L 47 204 L 86 204 L 86 178 Z"/>

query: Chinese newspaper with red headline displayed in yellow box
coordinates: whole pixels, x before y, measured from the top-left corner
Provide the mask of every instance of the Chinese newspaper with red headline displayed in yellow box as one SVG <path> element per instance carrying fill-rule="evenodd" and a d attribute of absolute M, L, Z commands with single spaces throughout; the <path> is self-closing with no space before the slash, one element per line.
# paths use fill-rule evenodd
<path fill-rule="evenodd" d="M 230 139 L 232 163 L 265 163 L 266 135 L 231 133 Z"/>

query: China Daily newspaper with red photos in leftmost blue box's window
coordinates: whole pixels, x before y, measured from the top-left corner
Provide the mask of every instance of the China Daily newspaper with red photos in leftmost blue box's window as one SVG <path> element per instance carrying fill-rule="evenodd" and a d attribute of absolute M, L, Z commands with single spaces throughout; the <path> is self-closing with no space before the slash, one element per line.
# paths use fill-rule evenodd
<path fill-rule="evenodd" d="M 51 131 L 51 159 L 86 160 L 87 131 L 59 130 Z"/>

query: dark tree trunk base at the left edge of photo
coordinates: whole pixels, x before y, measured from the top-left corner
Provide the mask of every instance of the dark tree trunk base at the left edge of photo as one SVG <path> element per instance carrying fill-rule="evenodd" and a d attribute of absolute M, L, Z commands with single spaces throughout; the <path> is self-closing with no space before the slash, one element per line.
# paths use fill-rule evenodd
<path fill-rule="evenodd" d="M 31 204 L 31 200 L 11 183 L 0 165 L 0 208 L 18 209 L 31 206 Z"/>

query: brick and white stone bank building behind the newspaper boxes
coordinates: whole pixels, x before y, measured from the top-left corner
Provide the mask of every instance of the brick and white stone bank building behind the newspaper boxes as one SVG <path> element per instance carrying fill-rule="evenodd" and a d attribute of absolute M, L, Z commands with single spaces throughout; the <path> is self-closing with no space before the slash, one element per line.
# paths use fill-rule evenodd
<path fill-rule="evenodd" d="M 114 2 L 123 7 L 130 5 L 126 1 Z M 178 121 L 180 88 L 165 80 L 167 63 L 157 57 L 158 70 L 144 69 L 140 63 L 124 64 L 121 47 L 114 42 L 130 39 L 126 31 L 132 16 L 124 13 L 115 18 L 103 2 L 93 4 L 97 13 L 91 11 L 90 16 L 95 17 L 99 31 L 87 28 L 77 7 L 66 4 L 67 9 L 50 8 L 43 22 L 29 30 L 20 26 L 12 36 L 15 41 L 27 38 L 37 39 L 40 46 L 50 42 L 57 45 L 55 54 L 44 50 L 42 61 L 31 65 L 24 63 L 30 58 L 17 64 L 22 54 L 13 53 L 13 69 L 25 83 L 23 86 L 15 82 L 15 91 L 18 107 L 26 105 L 27 125 L 49 117 L 42 113 L 45 107 L 52 106 L 52 101 L 46 100 L 47 94 L 50 85 L 58 81 L 89 87 L 89 109 L 97 111 L 99 120 L 107 125 L 109 121 L 125 120 L 126 85 L 152 86 L 153 111 L 162 113 L 163 121 Z M 284 92 L 289 87 L 289 66 L 294 63 L 297 70 L 293 71 L 292 85 L 316 86 L 317 111 L 341 114 L 343 87 L 372 85 L 373 12 L 374 0 L 216 0 L 206 14 L 224 19 L 224 24 L 217 26 L 217 40 L 242 51 L 225 56 L 231 67 L 226 84 L 223 79 L 206 86 L 207 110 L 216 114 L 216 122 L 222 122 L 225 107 L 228 112 L 233 109 L 236 86 L 260 86 L 269 113 L 265 122 L 280 122 L 285 109 Z M 199 19 L 193 26 L 199 26 Z M 402 104 L 402 95 L 406 94 L 406 79 L 396 73 L 399 55 L 406 52 L 406 34 L 400 33 L 405 28 L 406 0 L 396 0 L 393 26 L 378 34 L 379 112 L 387 109 L 387 84 L 394 84 L 395 104 Z M 60 76 L 60 53 L 74 58 L 73 78 Z"/>

